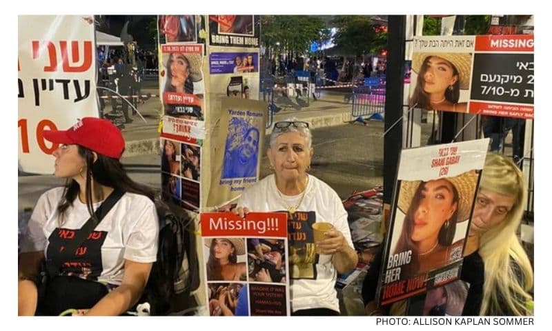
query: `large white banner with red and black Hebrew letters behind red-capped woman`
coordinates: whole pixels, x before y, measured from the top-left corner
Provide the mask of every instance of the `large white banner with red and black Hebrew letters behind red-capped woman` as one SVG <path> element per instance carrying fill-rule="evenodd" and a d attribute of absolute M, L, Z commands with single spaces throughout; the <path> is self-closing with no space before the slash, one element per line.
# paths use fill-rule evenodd
<path fill-rule="evenodd" d="M 44 130 L 66 130 L 98 117 L 92 15 L 19 15 L 18 169 L 52 174 L 59 144 Z"/>

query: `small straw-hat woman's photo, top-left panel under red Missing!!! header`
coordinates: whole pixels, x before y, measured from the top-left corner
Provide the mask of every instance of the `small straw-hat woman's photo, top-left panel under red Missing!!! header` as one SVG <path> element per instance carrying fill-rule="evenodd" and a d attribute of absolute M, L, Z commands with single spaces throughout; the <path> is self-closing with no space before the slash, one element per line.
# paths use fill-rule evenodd
<path fill-rule="evenodd" d="M 246 252 L 244 239 L 206 239 L 205 245 L 209 248 L 208 281 L 239 281 L 246 279 L 246 263 L 237 262 L 237 256 L 244 255 Z"/>

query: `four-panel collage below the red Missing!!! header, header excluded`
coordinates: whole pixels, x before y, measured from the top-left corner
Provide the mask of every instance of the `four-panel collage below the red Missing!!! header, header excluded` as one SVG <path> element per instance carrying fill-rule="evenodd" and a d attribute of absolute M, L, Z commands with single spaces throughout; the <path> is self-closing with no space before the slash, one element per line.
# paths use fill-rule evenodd
<path fill-rule="evenodd" d="M 286 316 L 286 241 L 204 238 L 210 316 Z"/>

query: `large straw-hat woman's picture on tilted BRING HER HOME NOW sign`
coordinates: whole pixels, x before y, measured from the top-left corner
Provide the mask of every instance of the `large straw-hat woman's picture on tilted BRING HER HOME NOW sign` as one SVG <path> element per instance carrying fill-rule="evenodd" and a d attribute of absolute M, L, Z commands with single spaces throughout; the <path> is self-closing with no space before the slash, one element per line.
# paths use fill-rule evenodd
<path fill-rule="evenodd" d="M 431 181 L 402 181 L 399 209 L 405 214 L 395 254 L 412 251 L 401 276 L 440 268 L 450 261 L 456 225 L 469 219 L 477 172 Z"/>

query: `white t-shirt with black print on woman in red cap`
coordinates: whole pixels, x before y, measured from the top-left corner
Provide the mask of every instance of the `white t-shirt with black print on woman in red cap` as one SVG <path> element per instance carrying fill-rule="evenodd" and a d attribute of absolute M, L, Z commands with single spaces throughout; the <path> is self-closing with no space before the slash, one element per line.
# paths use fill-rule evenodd
<path fill-rule="evenodd" d="M 53 188 L 41 195 L 30 217 L 21 252 L 43 250 L 47 258 L 48 254 L 51 257 L 88 221 L 88 208 L 77 197 L 63 213 L 60 227 L 57 205 L 62 195 L 63 188 Z M 99 205 L 95 203 L 94 210 Z M 144 195 L 126 192 L 77 248 L 75 257 L 63 263 L 62 274 L 120 285 L 125 259 L 155 262 L 158 235 L 154 203 Z"/>

